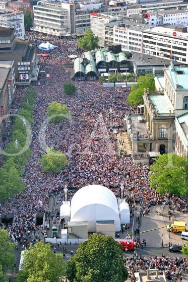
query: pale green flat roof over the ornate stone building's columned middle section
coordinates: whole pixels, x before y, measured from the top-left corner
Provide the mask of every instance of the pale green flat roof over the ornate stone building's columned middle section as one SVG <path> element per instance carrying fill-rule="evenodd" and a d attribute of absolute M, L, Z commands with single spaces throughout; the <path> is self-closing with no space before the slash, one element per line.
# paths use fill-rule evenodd
<path fill-rule="evenodd" d="M 159 114 L 169 114 L 170 110 L 173 113 L 173 107 L 168 99 L 168 97 L 164 94 L 148 94 L 150 102 L 152 103 L 155 111 Z"/>

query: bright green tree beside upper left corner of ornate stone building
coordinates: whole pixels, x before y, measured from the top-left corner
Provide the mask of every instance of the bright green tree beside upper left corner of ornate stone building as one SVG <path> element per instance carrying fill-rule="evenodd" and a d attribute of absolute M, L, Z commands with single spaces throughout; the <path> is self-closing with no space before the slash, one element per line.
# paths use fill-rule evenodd
<path fill-rule="evenodd" d="M 131 92 L 128 96 L 128 102 L 132 106 L 143 103 L 144 89 L 155 90 L 155 80 L 153 75 L 140 76 L 137 80 L 137 84 L 131 86 Z"/>

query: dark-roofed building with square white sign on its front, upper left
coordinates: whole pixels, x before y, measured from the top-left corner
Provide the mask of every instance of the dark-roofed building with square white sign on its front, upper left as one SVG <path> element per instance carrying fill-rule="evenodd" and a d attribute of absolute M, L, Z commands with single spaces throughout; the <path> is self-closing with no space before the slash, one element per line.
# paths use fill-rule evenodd
<path fill-rule="evenodd" d="M 30 85 L 39 72 L 36 45 L 30 39 L 16 39 L 15 30 L 0 27 L 0 60 L 14 60 L 17 86 Z"/>

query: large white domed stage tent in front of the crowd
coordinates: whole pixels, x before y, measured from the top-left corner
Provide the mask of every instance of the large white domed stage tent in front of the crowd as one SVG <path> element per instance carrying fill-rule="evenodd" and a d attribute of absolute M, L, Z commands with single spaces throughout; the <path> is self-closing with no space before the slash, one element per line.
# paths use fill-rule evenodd
<path fill-rule="evenodd" d="M 71 201 L 71 222 L 88 223 L 88 232 L 96 232 L 97 221 L 114 221 L 119 232 L 120 218 L 115 195 L 108 188 L 89 185 L 78 190 Z"/>

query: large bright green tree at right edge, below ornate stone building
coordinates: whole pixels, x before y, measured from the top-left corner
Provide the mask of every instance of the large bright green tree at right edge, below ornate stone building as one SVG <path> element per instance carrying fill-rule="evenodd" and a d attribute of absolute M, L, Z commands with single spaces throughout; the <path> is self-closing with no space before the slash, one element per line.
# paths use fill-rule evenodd
<path fill-rule="evenodd" d="M 186 166 L 187 160 L 175 153 L 161 155 L 150 167 L 151 187 L 160 194 L 187 196 Z"/>

